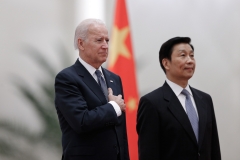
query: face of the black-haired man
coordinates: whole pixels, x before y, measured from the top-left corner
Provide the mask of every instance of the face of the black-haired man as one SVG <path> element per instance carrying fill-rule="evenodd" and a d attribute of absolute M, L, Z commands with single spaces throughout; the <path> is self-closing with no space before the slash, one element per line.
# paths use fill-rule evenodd
<path fill-rule="evenodd" d="M 173 47 L 171 61 L 167 60 L 166 74 L 174 82 L 188 81 L 195 70 L 194 52 L 187 43 Z"/>

